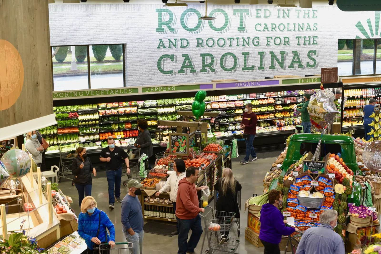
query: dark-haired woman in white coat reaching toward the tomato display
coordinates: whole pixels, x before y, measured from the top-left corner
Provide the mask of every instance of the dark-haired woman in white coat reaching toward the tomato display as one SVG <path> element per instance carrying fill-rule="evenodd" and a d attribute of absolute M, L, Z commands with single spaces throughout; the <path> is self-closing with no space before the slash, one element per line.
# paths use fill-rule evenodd
<path fill-rule="evenodd" d="M 185 177 L 185 163 L 182 159 L 176 159 L 173 162 L 173 171 L 171 175 L 168 177 L 166 184 L 162 187 L 161 190 L 156 192 L 156 196 L 162 194 L 163 192 L 170 191 L 169 198 L 173 204 L 174 213 L 176 213 L 176 198 L 177 198 L 177 190 L 179 189 L 179 181 Z M 176 231 L 173 231 L 171 235 L 179 234 L 179 221 L 176 223 Z"/>

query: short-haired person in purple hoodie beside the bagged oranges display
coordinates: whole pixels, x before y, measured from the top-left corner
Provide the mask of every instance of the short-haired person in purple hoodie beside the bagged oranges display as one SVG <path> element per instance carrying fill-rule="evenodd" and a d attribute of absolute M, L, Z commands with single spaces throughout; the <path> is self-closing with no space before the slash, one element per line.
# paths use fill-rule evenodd
<path fill-rule="evenodd" d="M 285 226 L 286 221 L 283 221 L 283 215 L 278 209 L 282 205 L 282 192 L 270 190 L 268 195 L 269 203 L 264 204 L 261 210 L 259 239 L 264 246 L 264 254 L 280 254 L 282 235 L 291 235 L 299 229 Z"/>

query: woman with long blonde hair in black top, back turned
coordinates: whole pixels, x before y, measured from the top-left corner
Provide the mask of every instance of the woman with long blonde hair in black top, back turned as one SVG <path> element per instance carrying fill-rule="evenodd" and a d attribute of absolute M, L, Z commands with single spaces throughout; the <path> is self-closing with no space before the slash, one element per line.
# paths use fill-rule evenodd
<path fill-rule="evenodd" d="M 235 217 L 239 218 L 239 206 L 237 202 L 237 194 L 242 189 L 241 184 L 234 179 L 231 168 L 224 168 L 222 178 L 218 178 L 215 184 L 215 190 L 218 190 L 218 200 L 216 202 L 216 211 L 235 213 Z M 221 232 L 221 241 L 227 241 L 229 231 Z"/>

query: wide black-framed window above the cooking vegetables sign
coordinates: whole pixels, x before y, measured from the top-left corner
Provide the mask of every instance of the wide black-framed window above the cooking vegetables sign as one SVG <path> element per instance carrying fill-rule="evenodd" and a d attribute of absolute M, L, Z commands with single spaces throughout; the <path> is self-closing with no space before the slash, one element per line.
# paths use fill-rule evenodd
<path fill-rule="evenodd" d="M 124 45 L 53 46 L 54 91 L 125 86 Z"/>

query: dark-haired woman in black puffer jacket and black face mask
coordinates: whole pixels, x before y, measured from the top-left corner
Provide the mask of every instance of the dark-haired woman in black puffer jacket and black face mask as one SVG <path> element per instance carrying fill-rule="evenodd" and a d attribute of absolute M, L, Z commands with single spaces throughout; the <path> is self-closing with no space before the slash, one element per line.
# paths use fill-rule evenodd
<path fill-rule="evenodd" d="M 91 164 L 90 158 L 87 157 L 86 148 L 80 146 L 77 148 L 75 159 L 72 165 L 72 173 L 74 175 L 74 184 L 78 190 L 79 206 L 85 196 L 91 196 L 91 173 L 96 176 L 96 170 Z"/>

